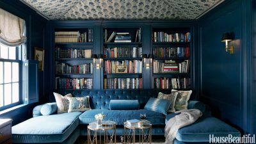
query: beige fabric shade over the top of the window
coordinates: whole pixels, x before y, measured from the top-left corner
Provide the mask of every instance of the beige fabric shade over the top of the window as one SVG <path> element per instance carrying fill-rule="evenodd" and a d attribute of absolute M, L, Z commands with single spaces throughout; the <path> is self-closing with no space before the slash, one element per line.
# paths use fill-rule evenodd
<path fill-rule="evenodd" d="M 25 42 L 25 20 L 0 8 L 0 42 L 7 46 L 17 46 Z"/>

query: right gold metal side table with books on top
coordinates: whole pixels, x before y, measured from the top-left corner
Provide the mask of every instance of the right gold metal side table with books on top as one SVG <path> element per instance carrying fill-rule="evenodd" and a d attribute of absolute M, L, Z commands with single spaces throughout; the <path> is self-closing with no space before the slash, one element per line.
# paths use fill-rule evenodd
<path fill-rule="evenodd" d="M 127 132 L 127 129 L 129 132 Z M 124 123 L 124 143 L 133 143 L 136 142 L 136 131 L 139 132 L 139 143 L 149 143 L 151 144 L 152 140 L 152 124 L 147 121 L 145 124 L 136 124 L 136 125 L 128 125 L 126 122 Z"/>

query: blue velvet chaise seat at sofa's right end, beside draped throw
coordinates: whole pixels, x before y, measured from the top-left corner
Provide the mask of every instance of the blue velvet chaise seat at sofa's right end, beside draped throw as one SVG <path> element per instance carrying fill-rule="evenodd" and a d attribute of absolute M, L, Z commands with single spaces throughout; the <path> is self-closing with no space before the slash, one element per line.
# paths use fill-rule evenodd
<path fill-rule="evenodd" d="M 212 116 L 203 116 L 194 124 L 182 127 L 176 134 L 176 139 L 183 142 L 209 142 L 209 134 L 214 136 L 240 136 L 240 132 L 225 122 Z"/>

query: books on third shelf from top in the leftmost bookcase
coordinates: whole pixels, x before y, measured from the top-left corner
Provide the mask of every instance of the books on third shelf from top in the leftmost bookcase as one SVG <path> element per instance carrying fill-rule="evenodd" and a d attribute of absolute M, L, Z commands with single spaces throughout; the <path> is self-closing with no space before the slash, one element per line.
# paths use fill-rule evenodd
<path fill-rule="evenodd" d="M 56 74 L 92 74 L 92 63 L 83 65 L 69 65 L 68 63 L 58 63 L 55 65 Z"/>

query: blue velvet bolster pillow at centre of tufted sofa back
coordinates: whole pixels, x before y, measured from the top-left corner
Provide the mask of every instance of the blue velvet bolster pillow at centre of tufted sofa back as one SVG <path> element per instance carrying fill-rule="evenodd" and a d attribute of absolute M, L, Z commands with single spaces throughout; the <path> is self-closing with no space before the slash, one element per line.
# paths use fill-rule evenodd
<path fill-rule="evenodd" d="M 110 100 L 109 108 L 111 110 L 133 110 L 139 109 L 139 100 Z"/>

